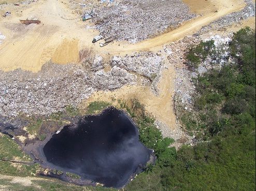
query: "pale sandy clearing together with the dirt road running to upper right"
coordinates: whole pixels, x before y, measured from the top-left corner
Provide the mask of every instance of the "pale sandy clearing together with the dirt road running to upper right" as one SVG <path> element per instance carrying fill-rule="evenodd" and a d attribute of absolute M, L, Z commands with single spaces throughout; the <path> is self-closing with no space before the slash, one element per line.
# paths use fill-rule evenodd
<path fill-rule="evenodd" d="M 103 56 L 159 50 L 162 45 L 192 35 L 202 26 L 245 6 L 242 0 L 184 0 L 184 3 L 191 6 L 191 11 L 202 15 L 168 33 L 136 44 L 115 42 L 99 47 L 91 43 L 98 31 L 86 29 L 79 15 L 68 7 L 67 0 L 39 0 L 19 14 L 0 19 L 1 33 L 6 36 L 4 43 L 0 44 L 0 69 L 21 68 L 37 72 L 49 60 L 55 63 L 77 62 L 81 49 L 92 49 Z M 22 27 L 19 20 L 26 18 L 39 19 L 42 24 Z"/>

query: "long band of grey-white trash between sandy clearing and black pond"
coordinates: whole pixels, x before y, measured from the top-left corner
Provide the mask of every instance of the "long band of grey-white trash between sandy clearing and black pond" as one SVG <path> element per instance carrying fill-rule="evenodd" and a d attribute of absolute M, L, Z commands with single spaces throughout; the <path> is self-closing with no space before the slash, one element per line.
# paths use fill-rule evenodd
<path fill-rule="evenodd" d="M 152 52 L 114 56 L 110 66 L 106 71 L 108 62 L 95 55 L 81 65 L 46 63 L 38 73 L 0 70 L 0 117 L 48 115 L 77 106 L 97 90 L 115 90 L 141 79 L 153 84 L 161 75 L 163 58 Z"/>

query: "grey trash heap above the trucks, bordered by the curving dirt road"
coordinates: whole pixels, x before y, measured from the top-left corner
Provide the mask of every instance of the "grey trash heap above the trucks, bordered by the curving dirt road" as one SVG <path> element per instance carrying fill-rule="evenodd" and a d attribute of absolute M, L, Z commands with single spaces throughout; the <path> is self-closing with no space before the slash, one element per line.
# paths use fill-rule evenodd
<path fill-rule="evenodd" d="M 121 1 L 95 10 L 93 21 L 105 37 L 136 43 L 195 17 L 181 0 Z"/>

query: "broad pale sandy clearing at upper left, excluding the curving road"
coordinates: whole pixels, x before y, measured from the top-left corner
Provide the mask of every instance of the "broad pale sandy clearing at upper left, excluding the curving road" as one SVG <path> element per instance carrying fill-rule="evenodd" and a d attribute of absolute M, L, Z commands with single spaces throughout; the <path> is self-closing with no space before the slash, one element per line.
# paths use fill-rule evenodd
<path fill-rule="evenodd" d="M 50 59 L 56 63 L 78 62 L 78 50 L 84 44 L 94 45 L 91 41 L 97 31 L 84 29 L 78 15 L 69 11 L 64 3 L 45 0 L 31 5 L 21 15 L 7 17 L 0 23 L 1 33 L 6 36 L 0 45 L 0 69 L 37 72 Z M 37 18 L 42 24 L 27 27 L 19 24 L 20 19 L 26 18 Z M 10 27 L 12 24 L 18 31 Z"/>

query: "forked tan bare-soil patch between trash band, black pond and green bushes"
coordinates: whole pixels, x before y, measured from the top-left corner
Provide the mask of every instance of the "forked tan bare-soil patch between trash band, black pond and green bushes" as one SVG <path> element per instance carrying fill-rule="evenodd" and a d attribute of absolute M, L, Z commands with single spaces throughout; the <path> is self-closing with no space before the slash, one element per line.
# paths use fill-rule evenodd
<path fill-rule="evenodd" d="M 167 56 L 166 56 L 167 57 Z M 152 93 L 152 90 L 146 86 L 127 85 L 115 91 L 97 91 L 91 97 L 82 103 L 80 106 L 87 106 L 92 101 L 107 101 L 113 102 L 113 99 L 129 101 L 137 99 L 143 103 L 146 110 L 155 118 L 168 124 L 171 129 L 176 128 L 176 117 L 173 110 L 173 82 L 175 77 L 175 69 L 170 66 L 166 60 L 162 71 L 162 77 L 158 83 L 159 95 Z M 168 68 L 168 69 L 167 69 Z"/>

